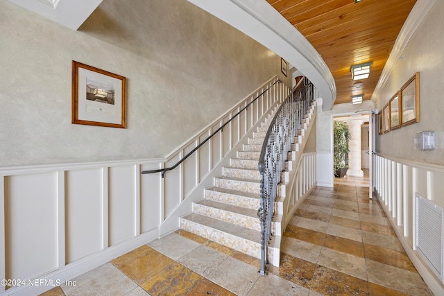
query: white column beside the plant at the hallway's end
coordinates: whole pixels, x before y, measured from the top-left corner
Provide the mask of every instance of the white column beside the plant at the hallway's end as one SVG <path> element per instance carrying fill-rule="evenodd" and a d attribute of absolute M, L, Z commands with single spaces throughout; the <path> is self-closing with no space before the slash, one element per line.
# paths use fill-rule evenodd
<path fill-rule="evenodd" d="M 352 138 L 348 143 L 348 171 L 347 175 L 352 177 L 364 177 L 364 171 L 361 169 L 361 124 L 364 121 L 347 121 L 350 135 Z"/>

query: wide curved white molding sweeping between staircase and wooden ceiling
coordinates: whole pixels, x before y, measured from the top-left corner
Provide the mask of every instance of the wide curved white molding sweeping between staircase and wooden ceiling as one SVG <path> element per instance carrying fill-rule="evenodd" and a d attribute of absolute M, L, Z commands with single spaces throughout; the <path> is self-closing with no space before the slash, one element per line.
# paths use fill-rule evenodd
<path fill-rule="evenodd" d="M 336 99 L 330 69 L 305 37 L 266 1 L 188 0 L 266 46 L 309 78 L 323 97 L 323 110 Z"/>

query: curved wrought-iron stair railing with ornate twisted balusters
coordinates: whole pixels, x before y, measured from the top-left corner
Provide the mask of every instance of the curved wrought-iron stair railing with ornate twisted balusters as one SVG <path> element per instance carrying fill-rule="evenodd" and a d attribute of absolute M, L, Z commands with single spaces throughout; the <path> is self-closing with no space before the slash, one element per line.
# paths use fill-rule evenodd
<path fill-rule="evenodd" d="M 298 131 L 313 99 L 313 85 L 307 78 L 302 78 L 280 106 L 266 132 L 258 164 L 261 207 L 257 210 L 257 216 L 261 222 L 261 275 L 266 275 L 267 245 L 273 235 L 273 204 L 278 196 L 280 174 L 284 171 L 287 153 L 291 151 L 295 137 L 298 137 Z"/>

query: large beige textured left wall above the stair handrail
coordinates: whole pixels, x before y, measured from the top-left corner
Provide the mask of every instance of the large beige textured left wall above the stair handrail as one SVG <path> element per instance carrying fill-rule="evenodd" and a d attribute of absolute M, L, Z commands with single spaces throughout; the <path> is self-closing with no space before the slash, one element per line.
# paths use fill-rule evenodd
<path fill-rule="evenodd" d="M 187 1 L 103 1 L 78 31 L 0 1 L 0 40 L 0 166 L 162 157 L 282 76 Z M 72 60 L 126 76 L 126 129 L 71 124 Z"/>

